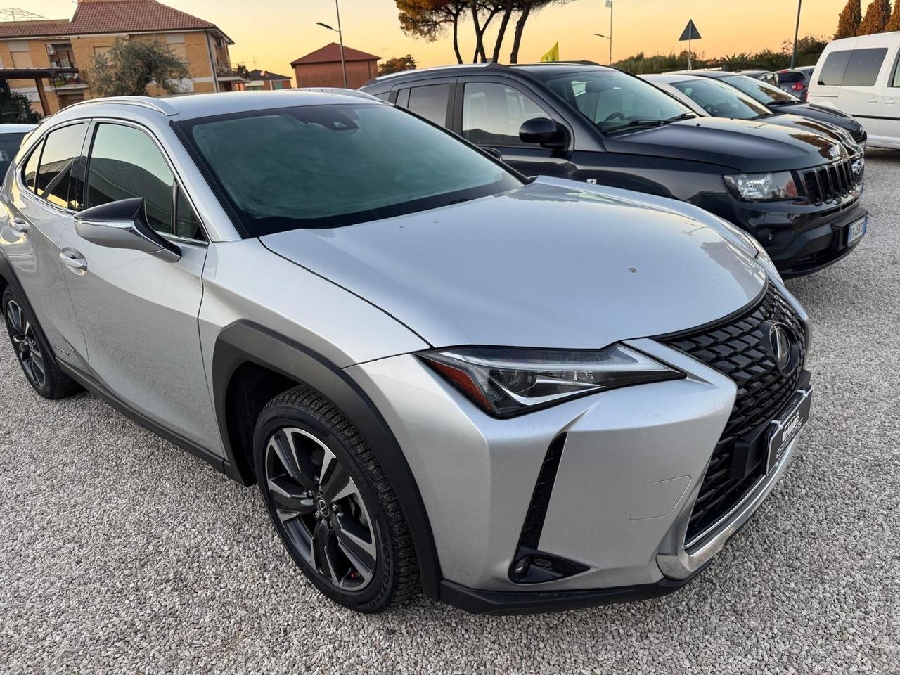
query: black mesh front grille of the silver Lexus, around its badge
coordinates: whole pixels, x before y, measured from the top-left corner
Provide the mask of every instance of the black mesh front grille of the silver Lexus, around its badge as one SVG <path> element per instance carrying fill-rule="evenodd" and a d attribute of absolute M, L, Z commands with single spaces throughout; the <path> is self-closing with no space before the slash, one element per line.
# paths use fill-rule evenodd
<path fill-rule="evenodd" d="M 797 334 L 800 361 L 790 375 L 779 371 L 766 348 L 768 336 L 762 324 L 770 320 L 787 324 Z M 736 319 L 663 341 L 715 368 L 737 385 L 734 408 L 709 460 L 690 516 L 685 535 L 689 543 L 740 502 L 765 472 L 765 462 L 760 461 L 751 471 L 735 476 L 735 444 L 773 419 L 797 392 L 806 361 L 806 330 L 788 301 L 770 284 L 761 301 Z"/>

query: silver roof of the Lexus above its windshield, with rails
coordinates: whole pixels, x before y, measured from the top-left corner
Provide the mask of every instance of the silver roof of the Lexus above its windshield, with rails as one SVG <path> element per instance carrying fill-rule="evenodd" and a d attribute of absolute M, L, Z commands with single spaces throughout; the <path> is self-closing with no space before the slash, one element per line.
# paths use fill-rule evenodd
<path fill-rule="evenodd" d="M 218 94 L 186 94 L 169 98 L 151 96 L 111 96 L 94 98 L 63 108 L 54 119 L 80 118 L 116 112 L 127 117 L 157 118 L 164 115 L 177 120 L 223 115 L 231 112 L 276 110 L 278 108 L 334 103 L 376 103 L 383 101 L 350 89 L 281 89 L 262 92 L 220 92 Z"/>

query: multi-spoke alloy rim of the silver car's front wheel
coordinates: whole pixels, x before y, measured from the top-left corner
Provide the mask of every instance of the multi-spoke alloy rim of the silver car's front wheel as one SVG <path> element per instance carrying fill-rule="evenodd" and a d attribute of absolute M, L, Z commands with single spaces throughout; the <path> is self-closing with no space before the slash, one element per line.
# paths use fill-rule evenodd
<path fill-rule="evenodd" d="M 365 589 L 378 560 L 374 522 L 329 447 L 301 428 L 277 429 L 266 441 L 266 487 L 287 537 L 320 578 Z"/>

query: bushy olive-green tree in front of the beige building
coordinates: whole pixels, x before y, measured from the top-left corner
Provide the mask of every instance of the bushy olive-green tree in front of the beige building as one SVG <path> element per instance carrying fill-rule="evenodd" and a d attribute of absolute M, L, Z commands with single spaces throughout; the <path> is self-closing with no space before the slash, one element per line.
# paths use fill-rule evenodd
<path fill-rule="evenodd" d="M 91 89 L 101 96 L 147 95 L 150 83 L 166 94 L 178 94 L 178 80 L 191 76 L 187 61 L 168 50 L 162 40 L 117 38 L 88 68 Z"/>

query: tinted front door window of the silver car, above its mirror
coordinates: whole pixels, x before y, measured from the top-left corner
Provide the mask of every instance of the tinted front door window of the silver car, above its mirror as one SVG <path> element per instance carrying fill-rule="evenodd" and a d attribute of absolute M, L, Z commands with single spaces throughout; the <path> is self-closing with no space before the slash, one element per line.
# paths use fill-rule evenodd
<path fill-rule="evenodd" d="M 147 220 L 157 232 L 172 233 L 175 177 L 153 139 L 139 129 L 100 124 L 87 170 L 87 207 L 143 197 Z"/>

